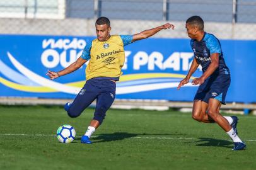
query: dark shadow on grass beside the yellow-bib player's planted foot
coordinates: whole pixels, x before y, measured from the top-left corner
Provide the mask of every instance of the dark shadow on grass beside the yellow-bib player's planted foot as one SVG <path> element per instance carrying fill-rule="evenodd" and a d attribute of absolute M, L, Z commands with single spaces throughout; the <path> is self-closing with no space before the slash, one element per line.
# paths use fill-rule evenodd
<path fill-rule="evenodd" d="M 93 143 L 110 142 L 115 140 L 123 140 L 131 137 L 136 137 L 137 134 L 127 132 L 103 133 L 92 137 Z M 96 141 L 95 141 L 96 140 Z"/>

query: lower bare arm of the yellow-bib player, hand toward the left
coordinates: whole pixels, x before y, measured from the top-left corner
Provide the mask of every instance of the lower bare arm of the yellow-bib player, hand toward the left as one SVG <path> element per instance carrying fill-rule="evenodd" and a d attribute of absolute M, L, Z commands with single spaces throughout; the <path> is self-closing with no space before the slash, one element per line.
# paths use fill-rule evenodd
<path fill-rule="evenodd" d="M 87 60 L 84 60 L 81 57 L 79 57 L 75 62 L 73 62 L 73 64 L 69 65 L 66 69 L 63 69 L 62 71 L 58 71 L 58 72 L 48 71 L 46 75 L 48 75 L 50 79 L 56 79 L 57 77 L 61 77 L 73 71 L 76 71 L 84 63 L 86 63 L 86 61 Z"/>

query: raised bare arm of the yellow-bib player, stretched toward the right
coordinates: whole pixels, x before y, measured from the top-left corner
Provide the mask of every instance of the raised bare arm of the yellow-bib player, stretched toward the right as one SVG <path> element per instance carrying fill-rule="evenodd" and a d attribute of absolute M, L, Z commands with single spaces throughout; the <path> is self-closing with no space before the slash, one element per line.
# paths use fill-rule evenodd
<path fill-rule="evenodd" d="M 158 26 L 156 28 L 152 28 L 150 30 L 145 30 L 142 31 L 140 33 L 134 34 L 132 37 L 132 42 L 135 42 L 137 40 L 142 40 L 148 37 L 151 37 L 152 35 L 156 34 L 157 32 L 161 31 L 161 30 L 166 30 L 166 29 L 170 29 L 172 28 L 172 30 L 174 29 L 174 25 L 170 24 L 170 23 L 166 23 L 165 25 L 161 25 Z"/>

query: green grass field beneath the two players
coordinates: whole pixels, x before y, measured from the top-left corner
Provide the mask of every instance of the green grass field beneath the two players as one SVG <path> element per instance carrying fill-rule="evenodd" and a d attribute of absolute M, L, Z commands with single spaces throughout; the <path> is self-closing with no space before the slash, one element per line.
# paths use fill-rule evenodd
<path fill-rule="evenodd" d="M 238 116 L 241 151 L 218 125 L 178 111 L 109 110 L 92 145 L 79 140 L 90 108 L 69 118 L 57 106 L 0 106 L 0 116 L 0 169 L 256 169 L 256 116 Z M 71 144 L 54 136 L 63 124 L 76 129 Z"/>

